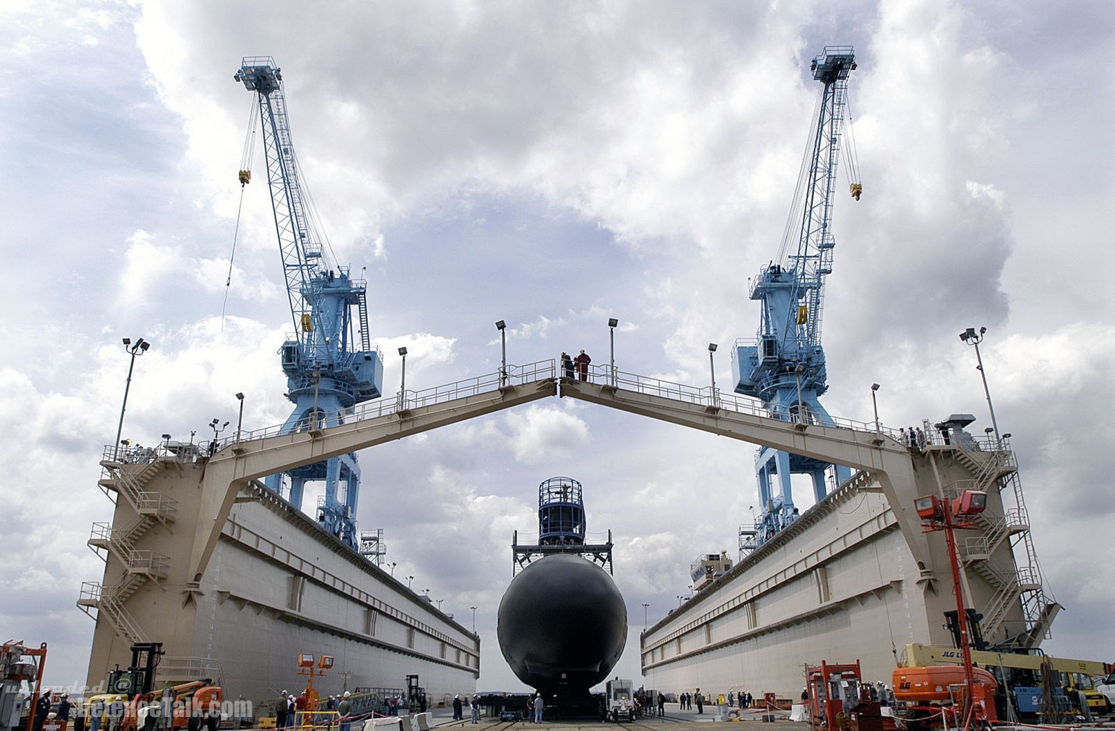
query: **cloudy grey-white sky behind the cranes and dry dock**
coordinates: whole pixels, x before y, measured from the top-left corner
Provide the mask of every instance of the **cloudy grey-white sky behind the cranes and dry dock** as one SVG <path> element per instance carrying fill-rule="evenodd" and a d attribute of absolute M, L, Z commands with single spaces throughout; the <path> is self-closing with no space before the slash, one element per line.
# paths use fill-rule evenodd
<path fill-rule="evenodd" d="M 1115 646 L 1109 294 L 1115 11 L 1109 2 L 0 2 L 0 635 L 49 642 L 83 680 L 74 605 L 101 563 L 89 524 L 127 370 L 125 436 L 281 422 L 290 329 L 262 185 L 249 186 L 222 320 L 252 95 L 284 71 L 294 143 L 337 257 L 367 266 L 385 391 L 584 348 L 705 384 L 708 342 L 754 334 L 747 279 L 776 253 L 816 95 L 808 60 L 856 47 L 864 194 L 835 205 L 825 347 L 838 416 L 892 426 L 971 411 L 986 325 L 1049 588 L 1046 645 Z M 262 172 L 262 153 L 255 172 Z M 35 284 L 35 286 L 31 286 Z M 729 349 L 717 353 L 724 378 Z M 517 688 L 495 642 L 511 533 L 537 484 L 584 484 L 615 537 L 638 676 L 642 604 L 688 593 L 698 552 L 735 553 L 754 449 L 591 405 L 544 401 L 360 455 L 359 522 L 468 615 L 481 688 Z M 802 503 L 807 504 L 807 490 Z M 447 550 L 452 547 L 452 550 Z M 1106 657 L 1109 659 L 1109 657 Z"/>

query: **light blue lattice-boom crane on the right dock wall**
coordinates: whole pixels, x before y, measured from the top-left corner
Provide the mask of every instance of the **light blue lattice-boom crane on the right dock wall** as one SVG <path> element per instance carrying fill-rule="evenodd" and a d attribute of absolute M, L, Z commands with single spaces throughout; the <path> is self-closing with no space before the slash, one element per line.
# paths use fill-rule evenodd
<path fill-rule="evenodd" d="M 828 390 L 821 315 L 825 276 L 832 273 L 836 245 L 832 205 L 841 123 L 847 77 L 854 69 L 855 53 L 850 46 L 826 46 L 813 59 L 813 78 L 822 88 L 791 216 L 778 257 L 750 283 L 750 299 L 762 303 L 757 335 L 738 340 L 733 351 L 736 392 L 757 397 L 776 417 L 803 423 L 833 423 L 818 400 Z M 862 189 L 857 178 L 853 178 L 852 196 L 859 199 Z M 830 468 L 835 469 L 837 484 L 851 476 L 843 465 L 766 447 L 759 449 L 755 469 L 762 510 L 755 525 L 756 544 L 797 516 L 791 475 L 812 476 L 814 494 L 820 500 L 826 494 L 825 474 Z M 772 490 L 774 475 L 778 476 L 779 495 Z"/>

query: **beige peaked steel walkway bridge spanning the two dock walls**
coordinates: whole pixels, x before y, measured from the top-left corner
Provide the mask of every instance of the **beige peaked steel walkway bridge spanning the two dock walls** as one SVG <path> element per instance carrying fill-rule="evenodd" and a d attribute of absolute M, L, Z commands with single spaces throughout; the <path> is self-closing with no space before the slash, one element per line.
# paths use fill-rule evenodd
<path fill-rule="evenodd" d="M 932 576 L 931 554 L 913 509 L 917 475 L 896 432 L 846 419 L 833 419 L 834 426 L 788 420 L 794 417 L 774 413 L 753 399 L 721 393 L 711 387 L 640 377 L 608 366 L 591 369 L 584 380 L 563 378 L 555 360 L 508 364 L 505 373 L 403 391 L 394 400 L 324 415 L 291 433 L 281 433 L 281 427 L 274 426 L 212 445 L 200 486 L 201 516 L 190 575 L 201 581 L 240 488 L 251 480 L 547 397 L 589 401 L 861 470 L 863 474 L 853 479 L 870 478 L 878 484 L 922 574 Z"/>

